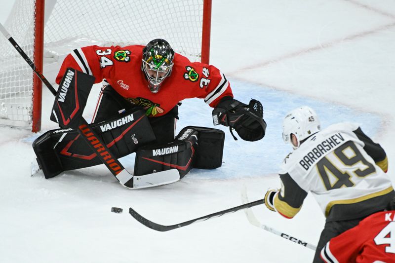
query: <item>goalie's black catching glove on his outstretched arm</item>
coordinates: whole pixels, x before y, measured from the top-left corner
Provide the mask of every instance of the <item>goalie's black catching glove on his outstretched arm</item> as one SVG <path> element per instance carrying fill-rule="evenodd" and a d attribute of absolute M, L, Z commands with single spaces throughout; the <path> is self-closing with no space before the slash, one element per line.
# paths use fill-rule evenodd
<path fill-rule="evenodd" d="M 258 141 L 265 136 L 266 122 L 263 119 L 263 107 L 257 100 L 250 100 L 249 105 L 234 99 L 221 101 L 213 110 L 214 125 L 229 126 L 232 132 L 236 130 L 238 136 L 244 141 Z"/>

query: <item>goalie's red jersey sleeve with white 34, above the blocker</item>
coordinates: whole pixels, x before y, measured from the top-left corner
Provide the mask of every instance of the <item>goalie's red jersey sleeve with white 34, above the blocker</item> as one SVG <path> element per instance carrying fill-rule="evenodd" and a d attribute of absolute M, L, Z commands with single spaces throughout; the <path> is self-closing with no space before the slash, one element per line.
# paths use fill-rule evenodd
<path fill-rule="evenodd" d="M 67 68 L 73 68 L 83 73 L 93 75 L 95 83 L 99 83 L 108 75 L 114 64 L 112 54 L 116 47 L 86 46 L 74 49 L 66 56 L 56 76 L 56 83 L 62 80 Z"/>

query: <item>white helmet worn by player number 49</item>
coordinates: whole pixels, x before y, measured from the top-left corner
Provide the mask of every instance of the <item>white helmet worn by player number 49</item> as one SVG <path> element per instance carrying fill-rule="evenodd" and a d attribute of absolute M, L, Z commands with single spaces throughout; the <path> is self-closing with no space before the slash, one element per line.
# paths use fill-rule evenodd
<path fill-rule="evenodd" d="M 316 112 L 303 106 L 286 114 L 282 122 L 282 139 L 285 143 L 291 143 L 294 149 L 300 146 L 300 142 L 320 130 L 320 122 Z M 294 146 L 291 142 L 291 134 L 298 139 L 298 145 Z"/>

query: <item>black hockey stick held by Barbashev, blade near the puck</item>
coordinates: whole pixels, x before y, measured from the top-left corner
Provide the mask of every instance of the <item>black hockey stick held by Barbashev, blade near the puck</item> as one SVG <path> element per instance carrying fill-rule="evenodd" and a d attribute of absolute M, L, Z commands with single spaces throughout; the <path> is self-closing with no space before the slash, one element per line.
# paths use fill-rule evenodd
<path fill-rule="evenodd" d="M 264 200 L 261 199 L 261 200 L 257 200 L 257 201 L 251 202 L 251 203 L 247 203 L 247 204 L 235 206 L 235 207 L 232 207 L 232 208 L 229 208 L 229 209 L 226 209 L 226 210 L 222 210 L 222 211 L 219 211 L 219 212 L 216 212 L 216 213 L 213 213 L 213 214 L 202 216 L 202 217 L 199 217 L 199 218 L 196 218 L 196 219 L 192 219 L 192 220 L 189 220 L 189 221 L 186 221 L 186 222 L 183 222 L 183 223 L 178 223 L 178 224 L 175 224 L 175 225 L 159 225 L 157 223 L 154 223 L 154 222 L 146 219 L 145 217 L 141 216 L 139 213 L 137 213 L 131 207 L 129 208 L 129 214 L 132 215 L 132 217 L 134 217 L 141 224 L 143 224 L 143 225 L 145 225 L 147 227 L 150 227 L 150 228 L 152 228 L 154 230 L 164 232 L 164 231 L 169 231 L 169 230 L 172 230 L 172 229 L 175 229 L 175 228 L 180 228 L 180 227 L 183 227 L 183 226 L 186 226 L 186 225 L 191 225 L 191 224 L 194 224 L 194 223 L 197 223 L 197 222 L 206 221 L 206 220 L 211 219 L 211 218 L 220 217 L 220 216 L 223 216 L 223 215 L 226 215 L 226 214 L 234 213 L 234 212 L 236 212 L 238 210 L 245 209 L 245 208 L 252 207 L 252 206 L 256 206 L 256 205 L 261 205 L 263 203 L 264 203 Z"/>

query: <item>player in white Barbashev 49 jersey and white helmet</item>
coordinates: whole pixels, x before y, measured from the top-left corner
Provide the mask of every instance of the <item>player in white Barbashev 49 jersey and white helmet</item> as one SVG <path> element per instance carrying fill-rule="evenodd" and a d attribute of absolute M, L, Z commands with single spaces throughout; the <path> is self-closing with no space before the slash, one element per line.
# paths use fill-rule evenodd
<path fill-rule="evenodd" d="M 304 106 L 283 121 L 283 140 L 294 149 L 282 162 L 281 188 L 269 190 L 265 204 L 293 218 L 310 191 L 326 217 L 314 257 L 332 237 L 356 226 L 365 217 L 386 209 L 395 196 L 386 174 L 385 151 L 348 122 L 320 130 L 315 111 Z"/>

